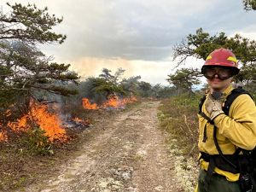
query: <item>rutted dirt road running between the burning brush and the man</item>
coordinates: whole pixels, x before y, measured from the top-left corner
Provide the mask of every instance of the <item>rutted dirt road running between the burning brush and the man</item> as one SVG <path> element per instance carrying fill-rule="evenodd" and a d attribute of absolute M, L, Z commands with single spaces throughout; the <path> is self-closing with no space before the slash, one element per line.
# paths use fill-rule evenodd
<path fill-rule="evenodd" d="M 159 104 L 143 102 L 98 121 L 93 129 L 84 131 L 83 147 L 60 165 L 57 177 L 32 184 L 25 191 L 182 191 L 158 129 Z"/>

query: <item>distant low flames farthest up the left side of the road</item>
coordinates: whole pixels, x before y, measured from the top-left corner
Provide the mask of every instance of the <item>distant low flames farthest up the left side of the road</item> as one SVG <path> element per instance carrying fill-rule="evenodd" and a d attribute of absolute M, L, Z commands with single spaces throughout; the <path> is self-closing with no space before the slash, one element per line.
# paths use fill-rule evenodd
<path fill-rule="evenodd" d="M 102 104 L 102 106 L 98 107 L 96 103 L 91 104 L 89 99 L 83 98 L 83 107 L 85 109 L 99 109 L 99 108 L 121 108 L 124 107 L 125 104 L 131 102 L 137 102 L 137 98 L 135 96 L 131 96 L 128 98 L 119 98 L 119 96 L 113 95 L 108 98 L 106 102 Z"/>

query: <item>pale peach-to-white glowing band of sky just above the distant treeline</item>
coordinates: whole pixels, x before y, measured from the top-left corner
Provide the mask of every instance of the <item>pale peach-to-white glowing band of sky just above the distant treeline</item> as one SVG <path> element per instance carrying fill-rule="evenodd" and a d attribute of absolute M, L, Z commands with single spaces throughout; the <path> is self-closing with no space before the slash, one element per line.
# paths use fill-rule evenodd
<path fill-rule="evenodd" d="M 97 77 L 102 68 L 108 68 L 114 73 L 119 67 L 125 69 L 124 78 L 140 75 L 141 80 L 151 84 L 167 84 L 167 75 L 172 73 L 175 66 L 173 61 L 137 61 L 124 60 L 121 58 L 101 59 L 93 57 L 83 57 L 72 63 L 71 70 L 79 73 L 83 78 Z"/>

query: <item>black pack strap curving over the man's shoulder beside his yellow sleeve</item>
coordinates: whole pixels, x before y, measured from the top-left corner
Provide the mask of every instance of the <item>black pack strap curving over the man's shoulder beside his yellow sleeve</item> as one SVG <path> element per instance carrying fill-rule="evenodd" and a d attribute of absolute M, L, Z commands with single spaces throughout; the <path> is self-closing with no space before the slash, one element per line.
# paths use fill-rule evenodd
<path fill-rule="evenodd" d="M 247 90 L 244 90 L 244 89 L 242 89 L 241 87 L 232 90 L 231 93 L 230 93 L 230 95 L 227 96 L 227 99 L 226 99 L 226 101 L 225 101 L 225 103 L 224 103 L 224 107 L 223 107 L 223 111 L 224 111 L 224 113 L 225 113 L 226 115 L 229 115 L 230 106 L 231 106 L 232 102 L 234 102 L 235 99 L 236 99 L 236 97 L 237 97 L 237 96 L 240 96 L 241 94 L 247 94 L 247 95 L 251 96 L 251 95 L 247 92 Z M 253 99 L 253 96 L 251 96 L 251 97 L 252 97 L 252 99 Z"/>

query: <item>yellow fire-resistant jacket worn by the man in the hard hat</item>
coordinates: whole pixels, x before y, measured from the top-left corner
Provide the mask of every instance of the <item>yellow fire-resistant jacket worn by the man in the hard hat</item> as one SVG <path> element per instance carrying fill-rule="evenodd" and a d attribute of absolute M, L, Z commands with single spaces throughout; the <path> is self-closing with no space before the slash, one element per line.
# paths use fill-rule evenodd
<path fill-rule="evenodd" d="M 224 90 L 225 99 L 234 88 L 230 85 Z M 202 112 L 206 113 L 205 105 L 202 106 Z M 207 122 L 207 119 L 199 117 L 199 143 L 200 151 L 207 154 L 218 154 L 218 150 L 213 141 L 213 125 Z M 236 148 L 252 150 L 256 146 L 256 107 L 253 99 L 247 94 L 238 96 L 231 104 L 229 116 L 220 114 L 214 119 L 214 124 L 218 127 L 217 140 L 223 154 L 234 154 Z M 207 125 L 207 141 L 203 142 L 204 128 Z M 200 160 L 201 169 L 207 171 L 209 163 Z M 214 172 L 223 175 L 227 180 L 235 182 L 239 179 L 239 173 L 224 172 L 215 168 Z"/>

